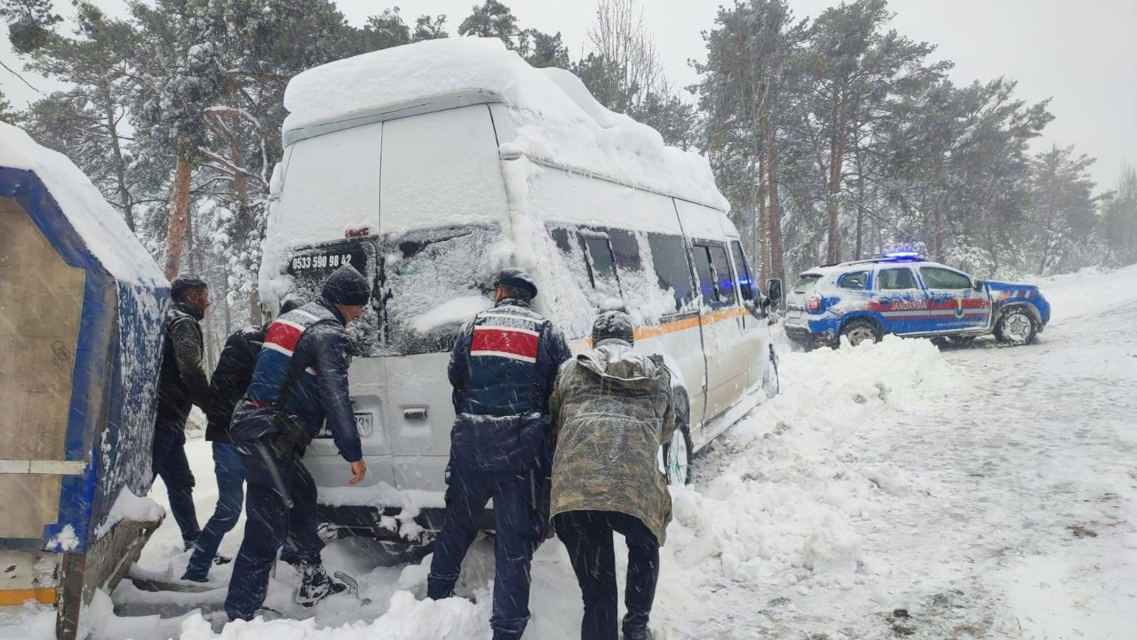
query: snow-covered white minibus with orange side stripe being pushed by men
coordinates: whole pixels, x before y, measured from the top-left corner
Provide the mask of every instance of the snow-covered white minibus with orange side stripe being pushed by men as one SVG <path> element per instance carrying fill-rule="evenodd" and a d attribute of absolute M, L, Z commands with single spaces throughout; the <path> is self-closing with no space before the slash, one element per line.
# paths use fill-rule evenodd
<path fill-rule="evenodd" d="M 262 298 L 314 295 L 345 263 L 374 287 L 350 369 L 370 471 L 348 486 L 330 437 L 305 456 L 329 533 L 425 540 L 441 524 L 449 350 L 506 265 L 532 273 L 536 310 L 575 350 L 622 306 L 638 348 L 664 355 L 682 426 L 661 454 L 671 482 L 777 393 L 755 265 L 709 165 L 571 73 L 497 40 L 438 40 L 307 71 L 284 105 Z"/>

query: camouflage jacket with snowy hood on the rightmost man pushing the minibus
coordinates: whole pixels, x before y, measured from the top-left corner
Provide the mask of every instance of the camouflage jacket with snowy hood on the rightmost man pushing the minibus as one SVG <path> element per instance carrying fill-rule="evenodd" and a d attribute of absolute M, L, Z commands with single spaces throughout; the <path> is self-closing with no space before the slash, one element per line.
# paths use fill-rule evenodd
<path fill-rule="evenodd" d="M 549 404 L 556 436 L 549 515 L 628 514 L 663 544 L 671 494 L 656 456 L 675 429 L 663 358 L 604 340 L 561 368 Z"/>

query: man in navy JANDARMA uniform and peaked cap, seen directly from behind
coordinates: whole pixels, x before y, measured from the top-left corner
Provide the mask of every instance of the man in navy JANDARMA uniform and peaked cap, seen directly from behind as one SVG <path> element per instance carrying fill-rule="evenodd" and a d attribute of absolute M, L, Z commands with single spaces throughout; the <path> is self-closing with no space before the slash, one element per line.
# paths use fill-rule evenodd
<path fill-rule="evenodd" d="M 549 395 L 572 356 L 564 335 L 530 309 L 537 285 L 520 269 L 495 282 L 497 305 L 462 329 L 448 369 L 457 418 L 450 432 L 446 519 L 434 542 L 428 597 L 454 596 L 462 559 L 493 500 L 493 640 L 529 622 L 529 567 L 548 522 L 553 459 Z"/>

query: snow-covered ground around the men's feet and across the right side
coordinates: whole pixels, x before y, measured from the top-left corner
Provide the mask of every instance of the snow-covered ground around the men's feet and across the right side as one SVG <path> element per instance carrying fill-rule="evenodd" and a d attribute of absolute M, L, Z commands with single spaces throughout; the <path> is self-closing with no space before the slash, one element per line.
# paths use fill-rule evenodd
<path fill-rule="evenodd" d="M 1137 268 L 1039 282 L 1054 318 L 1036 345 L 939 352 L 888 338 L 785 353 L 782 391 L 697 459 L 674 491 L 654 626 L 669 640 L 744 638 L 1132 638 L 1137 627 Z M 215 499 L 207 443 L 190 444 L 199 514 Z M 165 503 L 160 482 L 151 497 Z M 234 553 L 239 532 L 222 552 Z M 167 519 L 149 571 L 181 573 Z M 291 605 L 281 565 L 268 604 L 297 622 L 208 615 L 218 589 L 102 598 L 96 638 L 488 639 L 492 550 L 479 541 L 459 594 L 422 600 L 429 558 L 359 576 L 363 606 Z M 622 559 L 620 560 L 623 561 Z M 534 560 L 526 638 L 579 638 L 578 588 L 559 542 Z M 51 612 L 0 613 L 0 637 L 50 634 Z M 215 616 L 216 617 L 216 616 Z"/>

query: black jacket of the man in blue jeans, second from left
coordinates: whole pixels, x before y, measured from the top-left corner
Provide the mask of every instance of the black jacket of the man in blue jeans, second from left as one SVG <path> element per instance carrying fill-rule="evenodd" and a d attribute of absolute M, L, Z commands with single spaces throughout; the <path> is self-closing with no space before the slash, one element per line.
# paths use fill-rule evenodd
<path fill-rule="evenodd" d="M 233 409 L 244 397 L 252 370 L 260 355 L 268 323 L 260 327 L 238 329 L 225 340 L 225 348 L 217 360 L 217 368 L 209 378 L 209 426 L 206 440 L 229 443 L 229 425 L 233 420 Z"/>

